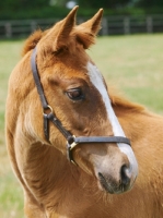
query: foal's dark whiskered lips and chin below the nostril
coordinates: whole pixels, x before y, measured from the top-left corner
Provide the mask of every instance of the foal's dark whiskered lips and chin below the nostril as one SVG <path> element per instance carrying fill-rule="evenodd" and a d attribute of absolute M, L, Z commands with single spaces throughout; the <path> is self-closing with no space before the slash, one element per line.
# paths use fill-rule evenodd
<path fill-rule="evenodd" d="M 101 172 L 98 172 L 98 181 L 103 191 L 109 194 L 120 194 L 129 190 L 129 185 L 116 184 L 106 179 Z"/>

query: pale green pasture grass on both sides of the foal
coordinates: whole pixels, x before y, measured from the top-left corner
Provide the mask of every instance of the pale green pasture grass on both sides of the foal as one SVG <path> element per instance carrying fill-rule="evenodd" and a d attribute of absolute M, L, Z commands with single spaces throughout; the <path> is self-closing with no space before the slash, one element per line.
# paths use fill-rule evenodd
<path fill-rule="evenodd" d="M 4 105 L 11 70 L 24 40 L 0 41 L 0 218 L 23 217 L 23 192 L 4 143 Z M 163 114 L 163 35 L 100 37 L 89 51 L 109 86 Z"/>

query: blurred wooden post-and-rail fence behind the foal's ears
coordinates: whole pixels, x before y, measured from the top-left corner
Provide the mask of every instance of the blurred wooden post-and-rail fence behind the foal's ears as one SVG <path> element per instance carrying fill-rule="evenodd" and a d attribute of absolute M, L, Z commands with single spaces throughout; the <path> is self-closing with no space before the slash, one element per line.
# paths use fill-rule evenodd
<path fill-rule="evenodd" d="M 1 21 L 0 38 L 26 37 L 36 28 L 46 29 L 58 22 L 58 19 Z M 79 19 L 79 23 L 84 19 Z M 100 35 L 123 35 L 136 33 L 163 33 L 163 14 L 135 16 L 105 16 Z"/>

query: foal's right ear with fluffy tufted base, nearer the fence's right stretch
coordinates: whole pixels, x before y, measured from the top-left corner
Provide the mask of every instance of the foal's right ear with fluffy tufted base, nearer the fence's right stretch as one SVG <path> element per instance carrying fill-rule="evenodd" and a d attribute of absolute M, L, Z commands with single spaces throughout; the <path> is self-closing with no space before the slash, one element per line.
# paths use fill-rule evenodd
<path fill-rule="evenodd" d="M 95 36 L 101 29 L 102 16 L 103 9 L 100 9 L 92 19 L 75 27 L 77 40 L 82 44 L 85 49 L 95 43 Z"/>

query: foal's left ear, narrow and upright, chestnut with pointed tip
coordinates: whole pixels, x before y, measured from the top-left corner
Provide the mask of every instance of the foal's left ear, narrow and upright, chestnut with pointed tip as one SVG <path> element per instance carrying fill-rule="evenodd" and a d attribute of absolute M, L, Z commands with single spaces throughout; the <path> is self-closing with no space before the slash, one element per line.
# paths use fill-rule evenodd
<path fill-rule="evenodd" d="M 63 19 L 61 22 L 58 23 L 58 34 L 55 37 L 55 41 L 53 43 L 53 49 L 54 51 L 58 51 L 60 48 L 62 48 L 65 45 L 67 45 L 69 35 L 72 31 L 72 28 L 75 25 L 75 14 L 78 10 L 78 5 L 74 7 L 70 13 Z"/>

